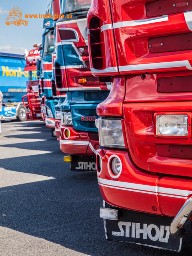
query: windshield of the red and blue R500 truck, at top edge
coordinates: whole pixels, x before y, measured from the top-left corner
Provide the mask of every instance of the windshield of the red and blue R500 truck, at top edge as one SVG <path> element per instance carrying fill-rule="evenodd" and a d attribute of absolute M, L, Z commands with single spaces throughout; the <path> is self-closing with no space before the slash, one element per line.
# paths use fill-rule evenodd
<path fill-rule="evenodd" d="M 62 14 L 71 12 L 72 10 L 81 10 L 84 8 L 90 8 L 91 0 L 66 0 L 62 6 Z"/>

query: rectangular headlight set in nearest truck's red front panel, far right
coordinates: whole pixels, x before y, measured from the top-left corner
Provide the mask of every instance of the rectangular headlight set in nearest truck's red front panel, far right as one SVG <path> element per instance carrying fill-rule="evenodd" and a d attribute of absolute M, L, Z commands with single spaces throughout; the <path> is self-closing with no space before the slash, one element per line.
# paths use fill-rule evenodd
<path fill-rule="evenodd" d="M 188 136 L 187 114 L 156 114 L 157 136 Z"/>

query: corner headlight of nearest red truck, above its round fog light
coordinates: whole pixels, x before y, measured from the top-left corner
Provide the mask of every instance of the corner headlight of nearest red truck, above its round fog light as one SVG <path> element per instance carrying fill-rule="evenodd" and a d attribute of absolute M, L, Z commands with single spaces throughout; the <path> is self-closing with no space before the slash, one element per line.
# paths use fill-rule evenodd
<path fill-rule="evenodd" d="M 96 119 L 100 146 L 125 148 L 121 120 Z"/>

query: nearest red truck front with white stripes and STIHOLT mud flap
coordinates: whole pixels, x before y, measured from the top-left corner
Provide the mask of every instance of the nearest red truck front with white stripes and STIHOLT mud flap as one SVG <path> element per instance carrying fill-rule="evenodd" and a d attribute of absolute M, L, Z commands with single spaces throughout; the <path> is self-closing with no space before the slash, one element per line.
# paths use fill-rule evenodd
<path fill-rule="evenodd" d="M 108 240 L 180 251 L 192 212 L 191 10 L 179 0 L 94 0 L 88 13 L 92 74 L 112 77 L 96 122 Z"/>

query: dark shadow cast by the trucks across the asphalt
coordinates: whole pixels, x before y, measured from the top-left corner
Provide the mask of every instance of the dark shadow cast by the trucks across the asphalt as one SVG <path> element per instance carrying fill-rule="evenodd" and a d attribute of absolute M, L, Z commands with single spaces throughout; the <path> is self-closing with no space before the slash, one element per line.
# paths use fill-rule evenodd
<path fill-rule="evenodd" d="M 42 131 L 44 127 L 38 129 Z M 36 138 L 36 135 L 28 134 L 28 137 L 23 134 L 20 138 Z M 44 137 L 43 133 L 40 135 Z M 2 159 L 0 166 L 6 170 L 55 179 L 1 188 L 2 226 L 44 238 L 90 256 L 178 255 L 145 246 L 106 241 L 103 221 L 99 218 L 102 197 L 96 173 L 71 172 L 69 164 L 62 160 L 63 154 L 59 150 L 58 141 L 52 140 L 47 134 L 46 138 L 42 142 L 4 145 L 24 149 L 35 147 L 36 150 L 46 148 L 53 151 Z M 188 255 L 191 249 L 188 236 L 183 241 L 180 254 Z"/>

